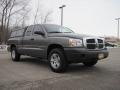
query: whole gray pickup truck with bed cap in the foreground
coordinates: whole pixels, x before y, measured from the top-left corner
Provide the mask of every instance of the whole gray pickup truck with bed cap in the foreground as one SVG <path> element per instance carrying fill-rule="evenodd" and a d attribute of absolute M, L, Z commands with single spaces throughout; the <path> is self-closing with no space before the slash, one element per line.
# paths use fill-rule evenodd
<path fill-rule="evenodd" d="M 47 60 L 54 72 L 65 71 L 68 64 L 94 66 L 108 57 L 104 38 L 74 33 L 53 24 L 37 24 L 14 30 L 8 40 L 13 61 L 21 55 Z"/>

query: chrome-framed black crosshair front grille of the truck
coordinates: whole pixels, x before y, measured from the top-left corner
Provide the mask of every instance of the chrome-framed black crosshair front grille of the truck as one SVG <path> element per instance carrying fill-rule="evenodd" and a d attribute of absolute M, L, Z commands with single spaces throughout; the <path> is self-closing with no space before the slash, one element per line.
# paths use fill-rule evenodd
<path fill-rule="evenodd" d="M 86 48 L 87 49 L 103 49 L 104 41 L 103 41 L 103 39 L 87 38 L 86 39 Z"/>

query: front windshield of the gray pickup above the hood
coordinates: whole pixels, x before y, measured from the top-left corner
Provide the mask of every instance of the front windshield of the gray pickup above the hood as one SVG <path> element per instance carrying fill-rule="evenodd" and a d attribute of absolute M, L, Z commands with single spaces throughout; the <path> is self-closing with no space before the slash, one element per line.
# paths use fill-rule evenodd
<path fill-rule="evenodd" d="M 59 25 L 44 25 L 47 33 L 74 33 L 71 29 Z"/>

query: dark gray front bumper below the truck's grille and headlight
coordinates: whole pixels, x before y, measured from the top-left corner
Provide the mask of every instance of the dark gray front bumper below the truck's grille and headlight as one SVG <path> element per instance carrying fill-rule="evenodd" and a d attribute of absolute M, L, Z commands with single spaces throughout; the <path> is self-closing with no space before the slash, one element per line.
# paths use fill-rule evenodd
<path fill-rule="evenodd" d="M 69 62 L 88 62 L 90 60 L 100 60 L 107 58 L 109 53 L 107 49 L 88 50 L 85 48 L 64 48 L 66 58 Z M 99 54 L 103 57 L 99 58 Z"/>

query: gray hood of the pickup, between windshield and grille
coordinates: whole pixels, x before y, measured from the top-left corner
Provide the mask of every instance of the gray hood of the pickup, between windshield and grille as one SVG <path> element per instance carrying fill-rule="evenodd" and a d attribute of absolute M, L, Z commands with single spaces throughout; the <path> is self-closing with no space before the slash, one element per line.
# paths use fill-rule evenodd
<path fill-rule="evenodd" d="M 84 37 L 91 37 L 91 36 L 76 34 L 76 33 L 49 33 L 48 37 L 68 37 L 68 38 L 82 39 Z"/>

